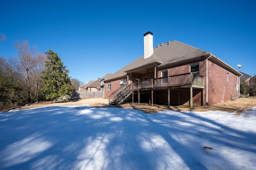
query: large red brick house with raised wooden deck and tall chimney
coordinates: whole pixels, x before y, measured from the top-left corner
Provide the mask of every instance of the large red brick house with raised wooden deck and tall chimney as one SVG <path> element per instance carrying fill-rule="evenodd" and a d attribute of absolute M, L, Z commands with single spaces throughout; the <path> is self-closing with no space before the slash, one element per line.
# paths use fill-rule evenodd
<path fill-rule="evenodd" d="M 206 51 L 179 41 L 153 49 L 144 34 L 144 55 L 104 79 L 104 98 L 165 105 L 212 105 L 238 98 L 242 74 Z"/>

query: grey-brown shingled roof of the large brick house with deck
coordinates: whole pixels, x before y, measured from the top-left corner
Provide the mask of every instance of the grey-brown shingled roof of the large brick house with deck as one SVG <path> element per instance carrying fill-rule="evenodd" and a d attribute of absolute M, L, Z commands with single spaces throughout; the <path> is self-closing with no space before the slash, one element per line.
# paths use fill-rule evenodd
<path fill-rule="evenodd" d="M 149 58 L 144 59 L 144 55 L 142 55 L 132 63 L 112 74 L 106 80 L 124 77 L 127 73 L 132 72 L 132 70 L 143 66 L 150 66 L 150 64 L 164 66 L 166 64 L 177 63 L 179 61 L 185 61 L 206 54 L 209 53 L 179 41 L 169 41 L 168 43 L 163 43 L 154 48 L 154 53 Z"/>

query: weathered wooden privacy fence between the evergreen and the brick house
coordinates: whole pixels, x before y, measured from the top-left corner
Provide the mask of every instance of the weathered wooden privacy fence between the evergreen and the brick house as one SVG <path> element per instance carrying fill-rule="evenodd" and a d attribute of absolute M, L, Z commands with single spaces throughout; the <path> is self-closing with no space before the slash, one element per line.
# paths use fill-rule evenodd
<path fill-rule="evenodd" d="M 103 97 L 104 97 L 104 92 L 73 92 L 70 96 L 70 100 L 103 98 Z"/>

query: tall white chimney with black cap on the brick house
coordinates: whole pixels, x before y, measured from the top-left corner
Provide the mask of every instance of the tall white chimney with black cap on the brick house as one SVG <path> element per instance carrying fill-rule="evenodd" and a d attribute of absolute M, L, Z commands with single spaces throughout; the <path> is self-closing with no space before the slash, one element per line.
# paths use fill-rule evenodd
<path fill-rule="evenodd" d="M 153 33 L 148 31 L 144 33 L 144 59 L 153 54 Z"/>

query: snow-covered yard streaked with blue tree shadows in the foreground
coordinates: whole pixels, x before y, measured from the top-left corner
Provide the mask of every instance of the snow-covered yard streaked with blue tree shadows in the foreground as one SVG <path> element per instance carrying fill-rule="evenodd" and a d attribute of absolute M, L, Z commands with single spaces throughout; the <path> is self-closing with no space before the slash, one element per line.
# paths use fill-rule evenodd
<path fill-rule="evenodd" d="M 256 106 L 240 115 L 88 106 L 0 112 L 0 169 L 255 170 Z"/>

